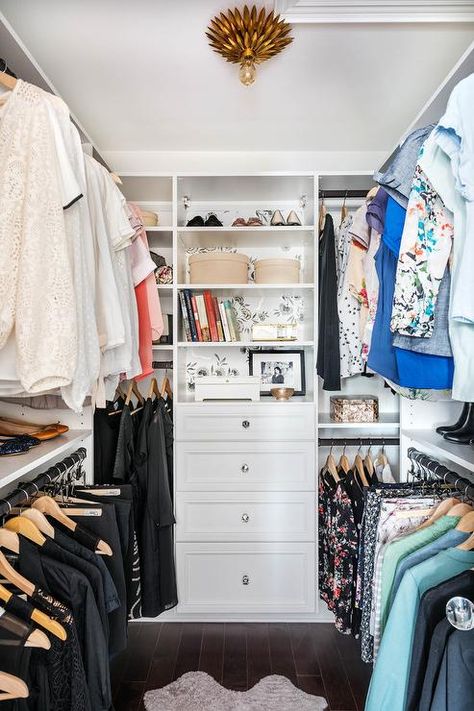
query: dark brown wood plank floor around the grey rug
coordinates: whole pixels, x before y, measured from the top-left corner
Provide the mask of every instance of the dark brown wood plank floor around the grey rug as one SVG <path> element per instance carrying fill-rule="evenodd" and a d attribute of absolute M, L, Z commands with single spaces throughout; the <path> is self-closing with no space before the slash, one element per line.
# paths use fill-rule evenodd
<path fill-rule="evenodd" d="M 198 670 L 236 691 L 281 674 L 330 711 L 363 711 L 371 673 L 357 642 L 329 624 L 136 622 L 112 667 L 115 709 L 143 711 L 145 691 Z"/>

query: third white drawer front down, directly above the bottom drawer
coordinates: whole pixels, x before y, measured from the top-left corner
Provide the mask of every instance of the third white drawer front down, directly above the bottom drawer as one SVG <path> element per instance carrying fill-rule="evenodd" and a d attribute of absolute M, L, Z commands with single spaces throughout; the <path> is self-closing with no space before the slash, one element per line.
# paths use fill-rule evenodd
<path fill-rule="evenodd" d="M 179 493 L 177 541 L 314 541 L 315 497 L 307 492 Z"/>

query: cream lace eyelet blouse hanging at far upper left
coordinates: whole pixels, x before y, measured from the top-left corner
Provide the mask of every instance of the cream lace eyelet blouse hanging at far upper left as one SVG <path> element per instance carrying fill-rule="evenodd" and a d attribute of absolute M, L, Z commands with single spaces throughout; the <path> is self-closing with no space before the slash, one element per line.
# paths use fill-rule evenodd
<path fill-rule="evenodd" d="M 77 359 L 72 265 L 44 94 L 18 80 L 0 114 L 0 348 L 14 329 L 18 380 L 31 393 L 68 385 Z"/>

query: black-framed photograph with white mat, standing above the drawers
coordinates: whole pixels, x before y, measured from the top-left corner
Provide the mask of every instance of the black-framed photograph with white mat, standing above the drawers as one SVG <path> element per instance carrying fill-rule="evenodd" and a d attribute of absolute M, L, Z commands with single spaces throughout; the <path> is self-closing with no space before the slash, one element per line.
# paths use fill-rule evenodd
<path fill-rule="evenodd" d="M 261 395 L 271 395 L 271 389 L 277 387 L 294 388 L 295 395 L 306 395 L 304 351 L 250 349 L 249 374 L 260 376 Z"/>

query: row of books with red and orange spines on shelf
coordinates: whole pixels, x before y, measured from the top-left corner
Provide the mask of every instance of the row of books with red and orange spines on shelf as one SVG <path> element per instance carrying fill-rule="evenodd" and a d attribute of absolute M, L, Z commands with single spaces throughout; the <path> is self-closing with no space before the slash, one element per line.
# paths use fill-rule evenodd
<path fill-rule="evenodd" d="M 230 299 L 219 300 L 210 291 L 179 292 L 187 341 L 239 341 L 240 331 Z"/>

